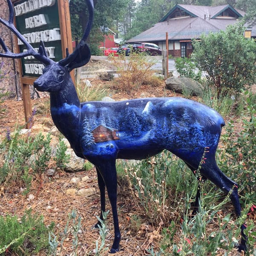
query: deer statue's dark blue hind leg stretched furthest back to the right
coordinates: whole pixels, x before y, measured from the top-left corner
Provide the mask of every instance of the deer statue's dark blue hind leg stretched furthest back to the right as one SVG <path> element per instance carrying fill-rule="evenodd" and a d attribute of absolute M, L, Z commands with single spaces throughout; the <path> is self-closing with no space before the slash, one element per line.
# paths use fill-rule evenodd
<path fill-rule="evenodd" d="M 209 180 L 218 186 L 226 195 L 230 193 L 230 199 L 235 208 L 236 216 L 239 218 L 241 215 L 241 205 L 239 203 L 238 184 L 224 175 L 218 168 L 215 159 L 212 160 L 212 166 L 202 165 L 201 173 Z M 247 236 L 244 234 L 246 225 L 241 225 L 241 244 L 238 246 L 239 251 L 247 250 Z"/>

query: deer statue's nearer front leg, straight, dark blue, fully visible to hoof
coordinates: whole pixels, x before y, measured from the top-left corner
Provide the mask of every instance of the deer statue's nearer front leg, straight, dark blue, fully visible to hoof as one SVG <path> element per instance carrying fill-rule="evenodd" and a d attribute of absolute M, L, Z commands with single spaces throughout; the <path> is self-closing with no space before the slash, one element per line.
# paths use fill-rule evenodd
<path fill-rule="evenodd" d="M 116 207 L 116 190 L 117 190 L 117 178 L 116 178 L 116 160 L 111 159 L 108 161 L 102 161 L 98 165 L 98 172 L 102 175 L 103 180 L 108 191 L 108 198 L 112 208 L 113 222 L 114 222 L 114 241 L 110 253 L 116 253 L 119 251 L 119 242 L 121 239 L 121 233 L 119 230 L 119 221 Z M 101 199 L 101 203 L 105 202 Z"/>

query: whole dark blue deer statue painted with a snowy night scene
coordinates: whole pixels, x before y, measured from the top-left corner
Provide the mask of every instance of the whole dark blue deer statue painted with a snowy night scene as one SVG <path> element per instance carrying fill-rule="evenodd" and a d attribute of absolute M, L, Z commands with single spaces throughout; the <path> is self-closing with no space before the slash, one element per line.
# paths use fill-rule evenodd
<path fill-rule="evenodd" d="M 193 171 L 201 164 L 201 177 L 209 179 L 230 199 L 239 217 L 238 184 L 218 168 L 215 151 L 225 125 L 223 118 L 213 109 L 198 102 L 173 98 L 145 98 L 121 102 L 80 103 L 70 71 L 90 60 L 90 49 L 85 40 L 93 22 L 93 0 L 86 0 L 89 9 L 87 28 L 75 51 L 59 62 L 50 59 L 41 42 L 38 52 L 26 41 L 13 25 L 14 11 L 11 0 L 9 20 L 0 22 L 26 45 L 27 51 L 10 52 L 0 38 L 1 57 L 21 58 L 34 56 L 45 65 L 43 74 L 34 82 L 39 91 L 50 94 L 53 122 L 69 140 L 75 153 L 96 166 L 101 212 L 105 212 L 105 188 L 112 207 L 114 241 L 111 253 L 119 250 L 121 239 L 116 208 L 116 159 L 145 159 L 164 149 L 180 157 Z M 200 188 L 195 198 L 198 209 Z M 102 218 L 102 214 L 101 214 Z M 99 227 L 100 222 L 96 224 Z M 245 225 L 241 226 L 239 250 L 247 249 Z"/>

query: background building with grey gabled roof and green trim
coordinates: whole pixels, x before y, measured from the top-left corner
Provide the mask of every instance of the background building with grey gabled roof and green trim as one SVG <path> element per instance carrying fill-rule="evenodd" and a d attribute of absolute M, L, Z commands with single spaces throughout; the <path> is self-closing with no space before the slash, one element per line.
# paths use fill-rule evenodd
<path fill-rule="evenodd" d="M 192 53 L 191 39 L 202 34 L 225 30 L 244 17 L 245 12 L 230 5 L 194 6 L 176 4 L 157 24 L 128 40 L 128 43 L 151 42 L 166 49 L 168 33 L 169 55 L 188 57 Z M 256 38 L 256 27 L 250 29 Z"/>

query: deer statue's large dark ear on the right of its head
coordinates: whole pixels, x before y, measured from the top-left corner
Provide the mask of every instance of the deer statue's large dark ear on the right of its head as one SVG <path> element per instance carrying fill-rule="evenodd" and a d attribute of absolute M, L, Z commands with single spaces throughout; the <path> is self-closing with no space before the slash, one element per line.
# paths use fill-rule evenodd
<path fill-rule="evenodd" d="M 71 71 L 76 67 L 82 67 L 90 61 L 90 49 L 84 41 L 81 41 L 73 53 L 59 61 L 61 66 L 67 66 Z"/>

